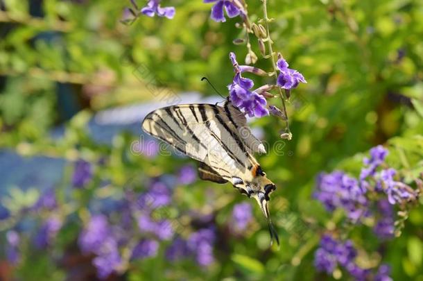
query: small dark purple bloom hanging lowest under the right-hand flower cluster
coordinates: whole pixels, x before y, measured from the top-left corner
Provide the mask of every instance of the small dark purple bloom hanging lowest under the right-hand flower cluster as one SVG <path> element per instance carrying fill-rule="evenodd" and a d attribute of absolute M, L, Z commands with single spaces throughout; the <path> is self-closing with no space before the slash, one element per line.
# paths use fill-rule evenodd
<path fill-rule="evenodd" d="M 392 205 L 388 200 L 381 200 L 377 204 L 380 219 L 374 225 L 374 233 L 381 239 L 391 239 L 394 237 L 395 221 Z"/>

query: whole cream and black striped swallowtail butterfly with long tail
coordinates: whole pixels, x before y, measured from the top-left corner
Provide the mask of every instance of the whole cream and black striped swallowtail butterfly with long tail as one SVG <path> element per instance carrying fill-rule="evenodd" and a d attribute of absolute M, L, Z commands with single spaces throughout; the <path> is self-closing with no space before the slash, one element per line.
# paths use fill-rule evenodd
<path fill-rule="evenodd" d="M 171 105 L 148 113 L 142 128 L 198 160 L 198 175 L 202 180 L 230 182 L 241 194 L 254 198 L 268 221 L 271 240 L 275 239 L 279 245 L 268 211 L 269 196 L 276 185 L 266 178 L 254 158 L 254 153 L 266 153 L 266 149 L 252 135 L 243 112 L 228 100 L 223 106 Z"/>

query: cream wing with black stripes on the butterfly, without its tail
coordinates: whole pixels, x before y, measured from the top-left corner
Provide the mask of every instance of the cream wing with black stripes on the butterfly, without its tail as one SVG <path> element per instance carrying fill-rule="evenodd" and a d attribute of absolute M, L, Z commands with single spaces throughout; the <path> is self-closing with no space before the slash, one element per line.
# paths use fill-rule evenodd
<path fill-rule="evenodd" d="M 146 116 L 142 128 L 212 167 L 225 180 L 250 175 L 248 167 L 257 164 L 252 152 L 258 151 L 260 142 L 246 133 L 245 117 L 229 103 L 223 107 L 187 104 L 160 108 Z"/>

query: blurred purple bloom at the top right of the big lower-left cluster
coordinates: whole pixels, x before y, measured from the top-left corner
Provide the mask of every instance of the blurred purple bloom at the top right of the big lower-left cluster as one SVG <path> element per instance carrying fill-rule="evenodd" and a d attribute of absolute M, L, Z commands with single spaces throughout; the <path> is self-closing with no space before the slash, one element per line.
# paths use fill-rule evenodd
<path fill-rule="evenodd" d="M 153 210 L 158 207 L 169 205 L 171 191 L 163 182 L 154 182 L 150 189 L 141 194 L 137 199 L 137 206 L 141 210 Z"/>

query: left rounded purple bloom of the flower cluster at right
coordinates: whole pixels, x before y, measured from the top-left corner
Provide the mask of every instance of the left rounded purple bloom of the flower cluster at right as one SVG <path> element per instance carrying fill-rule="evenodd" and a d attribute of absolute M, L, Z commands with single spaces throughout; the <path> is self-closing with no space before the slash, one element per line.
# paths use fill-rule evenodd
<path fill-rule="evenodd" d="M 354 222 L 359 221 L 368 212 L 365 189 L 359 186 L 356 179 L 342 171 L 321 173 L 316 189 L 314 197 L 322 202 L 328 211 L 337 207 L 343 208 L 349 219 Z"/>

